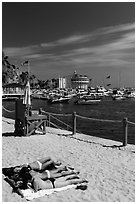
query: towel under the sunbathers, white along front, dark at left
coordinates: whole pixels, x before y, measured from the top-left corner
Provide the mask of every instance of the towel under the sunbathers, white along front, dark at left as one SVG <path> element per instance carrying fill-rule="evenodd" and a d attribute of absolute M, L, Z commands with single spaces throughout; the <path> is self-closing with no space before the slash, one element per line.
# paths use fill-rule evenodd
<path fill-rule="evenodd" d="M 60 188 L 52 188 L 52 189 L 44 189 L 35 191 L 31 185 L 27 184 L 27 186 L 23 185 L 23 181 L 19 178 L 19 172 L 22 169 L 21 166 L 3 168 L 2 173 L 5 176 L 4 180 L 7 181 L 10 186 L 13 188 L 13 192 L 18 193 L 20 196 L 26 198 L 26 200 L 33 200 L 35 198 L 40 198 L 45 195 L 50 195 L 55 192 L 64 191 L 67 189 L 81 189 L 86 190 L 87 186 L 84 184 L 71 184 Z"/>

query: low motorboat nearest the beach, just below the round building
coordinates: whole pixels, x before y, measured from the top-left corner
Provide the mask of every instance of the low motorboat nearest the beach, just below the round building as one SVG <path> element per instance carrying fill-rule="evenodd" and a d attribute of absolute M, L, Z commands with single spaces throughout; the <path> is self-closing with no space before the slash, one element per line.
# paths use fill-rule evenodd
<path fill-rule="evenodd" d="M 77 105 L 97 105 L 101 102 L 100 99 L 85 99 L 85 98 L 79 98 L 74 103 Z"/>

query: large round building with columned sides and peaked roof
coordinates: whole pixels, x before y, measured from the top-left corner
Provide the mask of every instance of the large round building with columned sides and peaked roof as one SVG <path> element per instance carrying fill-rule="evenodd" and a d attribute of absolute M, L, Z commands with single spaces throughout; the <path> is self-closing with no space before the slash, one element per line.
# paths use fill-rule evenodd
<path fill-rule="evenodd" d="M 73 89 L 85 89 L 87 90 L 89 86 L 89 78 L 86 75 L 79 75 L 74 72 L 71 77 L 71 87 Z"/>

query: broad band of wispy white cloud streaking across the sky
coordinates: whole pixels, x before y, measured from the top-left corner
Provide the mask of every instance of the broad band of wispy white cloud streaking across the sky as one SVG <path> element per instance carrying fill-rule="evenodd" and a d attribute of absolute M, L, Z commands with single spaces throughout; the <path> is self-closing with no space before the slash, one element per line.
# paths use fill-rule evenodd
<path fill-rule="evenodd" d="M 29 59 L 50 69 L 75 65 L 126 67 L 135 63 L 135 24 L 99 28 L 39 45 L 4 48 L 4 52 L 9 57 Z"/>

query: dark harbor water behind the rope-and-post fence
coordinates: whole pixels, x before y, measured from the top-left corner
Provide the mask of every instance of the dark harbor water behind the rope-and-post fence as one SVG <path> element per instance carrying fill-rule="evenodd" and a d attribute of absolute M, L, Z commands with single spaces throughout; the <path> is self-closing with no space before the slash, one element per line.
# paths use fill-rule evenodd
<path fill-rule="evenodd" d="M 15 110 L 15 102 L 4 101 L 3 107 L 10 111 Z M 76 105 L 73 101 L 70 101 L 68 104 L 49 104 L 46 100 L 32 99 L 32 109 L 38 110 L 39 108 L 50 113 L 70 115 L 76 112 L 77 115 L 87 118 L 101 119 L 100 121 L 95 121 L 77 117 L 77 131 L 120 142 L 123 141 L 123 118 L 127 117 L 128 121 L 135 122 L 135 99 L 113 101 L 111 98 L 106 97 L 103 98 L 98 105 Z M 4 109 L 2 114 L 5 117 L 15 118 L 13 112 L 7 112 Z M 57 115 L 55 117 L 72 126 L 71 115 Z M 113 120 L 116 122 L 107 122 L 103 120 Z M 61 125 L 55 118 L 51 117 L 51 122 L 64 128 L 64 125 Z M 135 144 L 135 125 L 128 125 L 128 143 Z"/>

